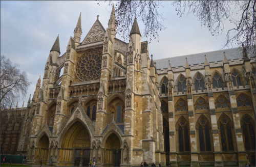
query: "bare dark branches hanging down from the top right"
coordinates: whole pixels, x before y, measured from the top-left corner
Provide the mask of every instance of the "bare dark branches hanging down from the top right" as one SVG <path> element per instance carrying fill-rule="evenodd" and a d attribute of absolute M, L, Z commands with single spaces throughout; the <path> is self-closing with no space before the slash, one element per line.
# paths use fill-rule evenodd
<path fill-rule="evenodd" d="M 108 2 L 113 5 L 112 1 Z M 221 35 L 225 21 L 234 24 L 226 35 L 224 47 L 241 47 L 255 55 L 255 2 L 256 1 L 172 1 L 177 15 L 186 14 L 196 16 L 201 25 L 207 27 L 212 36 Z M 99 4 L 99 3 L 98 3 Z M 165 29 L 160 20 L 164 20 L 159 13 L 160 1 L 117 1 L 115 6 L 117 33 L 128 39 L 130 27 L 134 18 L 143 21 L 145 29 L 143 35 L 150 39 L 158 38 L 158 31 Z M 236 17 L 235 17 L 236 16 Z"/>

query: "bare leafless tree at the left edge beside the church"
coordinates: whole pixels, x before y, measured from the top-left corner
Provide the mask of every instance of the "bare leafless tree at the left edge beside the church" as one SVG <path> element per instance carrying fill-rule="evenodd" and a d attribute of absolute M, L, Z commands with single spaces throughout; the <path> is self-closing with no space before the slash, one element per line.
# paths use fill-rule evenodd
<path fill-rule="evenodd" d="M 12 63 L 10 59 L 1 55 L 1 108 L 9 107 L 27 94 L 31 82 L 28 81 L 27 72 L 20 71 L 18 67 L 18 64 Z"/>

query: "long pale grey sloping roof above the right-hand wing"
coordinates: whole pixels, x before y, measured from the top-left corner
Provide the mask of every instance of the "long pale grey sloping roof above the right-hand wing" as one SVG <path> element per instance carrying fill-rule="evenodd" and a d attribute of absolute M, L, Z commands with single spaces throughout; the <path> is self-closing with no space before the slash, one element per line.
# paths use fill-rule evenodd
<path fill-rule="evenodd" d="M 195 64 L 204 64 L 205 57 L 209 63 L 211 62 L 219 62 L 224 60 L 224 52 L 226 54 L 226 58 L 228 60 L 233 61 L 234 59 L 240 59 L 243 57 L 243 49 L 240 48 L 231 48 L 231 49 L 223 49 L 223 50 L 216 50 L 216 51 L 209 51 L 209 52 L 202 52 L 196 54 L 188 54 L 188 55 L 181 55 L 178 57 L 172 58 L 165 58 L 165 59 L 158 59 L 155 60 L 157 63 L 157 69 L 163 69 L 168 67 L 168 61 L 170 61 L 170 65 L 173 67 L 185 67 L 186 58 L 189 65 L 193 66 Z M 252 57 L 252 53 L 247 53 L 248 57 Z"/>

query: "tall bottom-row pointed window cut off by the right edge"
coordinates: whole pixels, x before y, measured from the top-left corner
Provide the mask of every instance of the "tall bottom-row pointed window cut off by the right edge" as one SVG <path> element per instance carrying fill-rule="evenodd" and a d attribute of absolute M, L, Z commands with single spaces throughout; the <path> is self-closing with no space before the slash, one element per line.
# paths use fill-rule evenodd
<path fill-rule="evenodd" d="M 245 116 L 242 121 L 242 132 L 245 150 L 255 150 L 255 123 L 249 117 Z"/>

